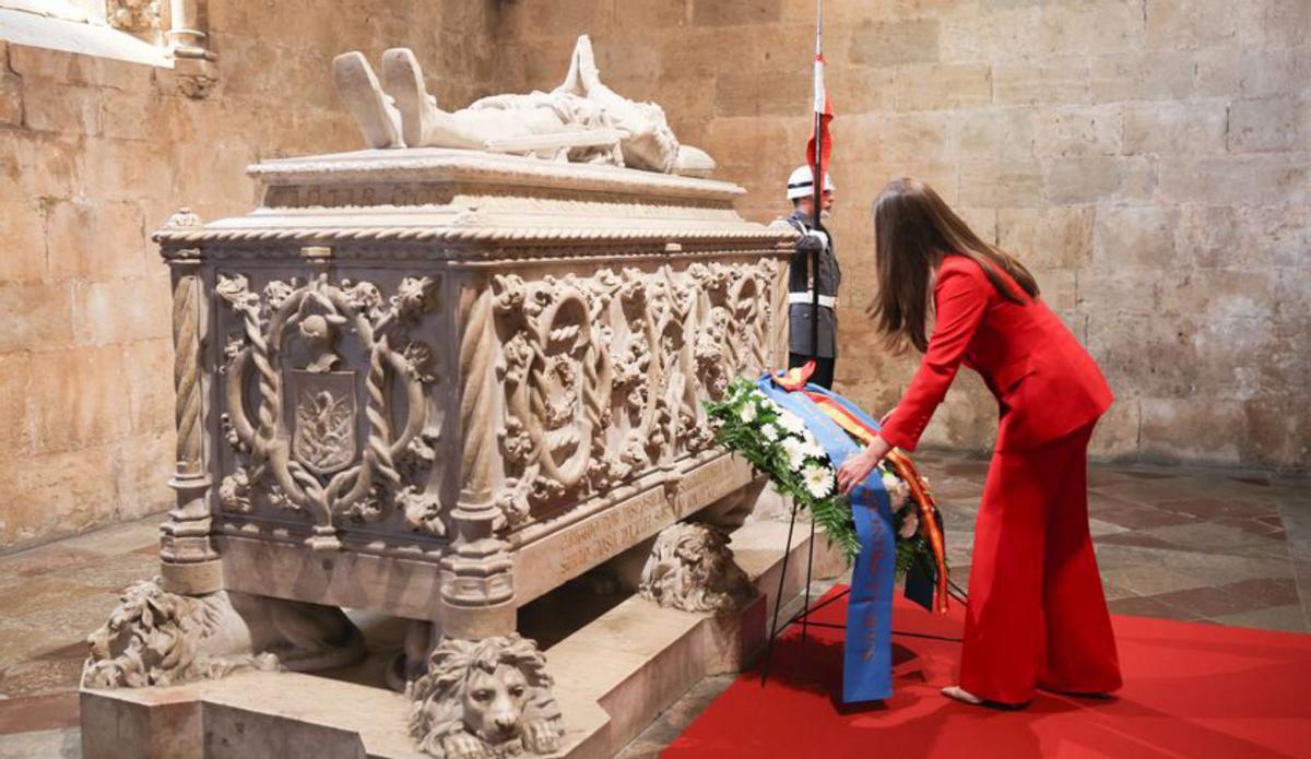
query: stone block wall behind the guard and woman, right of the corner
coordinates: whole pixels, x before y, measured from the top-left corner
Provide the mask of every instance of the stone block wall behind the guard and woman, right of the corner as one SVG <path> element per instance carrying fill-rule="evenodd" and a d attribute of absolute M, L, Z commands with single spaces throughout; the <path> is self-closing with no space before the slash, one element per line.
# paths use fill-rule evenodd
<path fill-rule="evenodd" d="M 918 357 L 863 316 L 869 207 L 932 184 L 1025 261 L 1101 363 L 1105 459 L 1311 465 L 1311 3 L 826 0 L 844 266 L 838 384 L 873 410 Z M 502 3 L 498 88 L 553 87 L 593 35 L 607 84 L 787 210 L 810 130 L 814 0 Z M 926 444 L 986 450 L 971 372 Z"/>

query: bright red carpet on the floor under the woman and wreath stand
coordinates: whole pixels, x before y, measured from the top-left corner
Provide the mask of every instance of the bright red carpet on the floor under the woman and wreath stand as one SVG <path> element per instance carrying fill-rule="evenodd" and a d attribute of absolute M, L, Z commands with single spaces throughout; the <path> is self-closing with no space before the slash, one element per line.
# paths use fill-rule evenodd
<path fill-rule="evenodd" d="M 893 629 L 960 638 L 964 608 L 902 599 Z M 814 619 L 842 623 L 838 602 Z M 950 701 L 960 644 L 893 636 L 895 695 L 842 709 L 842 631 L 789 628 L 770 683 L 729 687 L 662 756 L 1311 756 L 1311 636 L 1114 617 L 1125 687 L 1109 701 L 1044 693 L 1023 712 Z"/>

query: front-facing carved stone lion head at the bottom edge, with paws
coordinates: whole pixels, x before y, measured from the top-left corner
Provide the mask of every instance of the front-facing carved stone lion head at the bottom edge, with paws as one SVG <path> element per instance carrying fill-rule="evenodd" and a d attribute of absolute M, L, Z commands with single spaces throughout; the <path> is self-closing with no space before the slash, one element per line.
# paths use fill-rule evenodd
<path fill-rule="evenodd" d="M 564 728 L 538 645 L 518 633 L 447 638 L 406 687 L 410 734 L 438 759 L 549 754 Z"/>

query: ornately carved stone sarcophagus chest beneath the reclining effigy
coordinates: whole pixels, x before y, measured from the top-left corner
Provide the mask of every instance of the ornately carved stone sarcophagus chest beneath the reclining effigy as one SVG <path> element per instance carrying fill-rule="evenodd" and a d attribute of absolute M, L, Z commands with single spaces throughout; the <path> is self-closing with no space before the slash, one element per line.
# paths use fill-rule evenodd
<path fill-rule="evenodd" d="M 734 185 L 418 148 L 252 168 L 173 270 L 174 593 L 514 631 L 749 484 L 701 401 L 785 362 L 793 232 Z"/>

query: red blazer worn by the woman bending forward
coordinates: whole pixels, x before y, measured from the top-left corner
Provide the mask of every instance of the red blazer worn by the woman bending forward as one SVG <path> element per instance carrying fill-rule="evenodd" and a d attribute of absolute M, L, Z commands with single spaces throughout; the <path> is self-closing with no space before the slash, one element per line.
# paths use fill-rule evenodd
<path fill-rule="evenodd" d="M 999 451 L 1049 443 L 1110 408 L 1110 388 L 1088 351 L 1041 299 L 1029 300 L 1004 271 L 999 274 L 1025 303 L 1002 298 L 974 261 L 964 256 L 943 260 L 933 286 L 937 321 L 928 350 L 878 433 L 893 446 L 915 450 L 961 362 L 996 396 Z"/>

